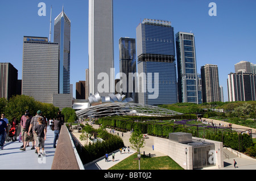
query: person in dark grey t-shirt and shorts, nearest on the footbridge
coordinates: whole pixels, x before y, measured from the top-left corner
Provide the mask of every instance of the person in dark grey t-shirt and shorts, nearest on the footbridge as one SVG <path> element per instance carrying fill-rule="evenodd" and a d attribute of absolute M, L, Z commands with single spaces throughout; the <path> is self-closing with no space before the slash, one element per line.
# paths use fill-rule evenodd
<path fill-rule="evenodd" d="M 36 133 L 36 148 L 38 149 L 38 157 L 41 157 L 40 147 L 42 148 L 42 154 L 44 153 L 44 141 L 46 140 L 46 125 L 43 124 L 43 117 L 38 117 L 38 125 L 35 126 Z"/>

